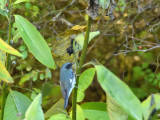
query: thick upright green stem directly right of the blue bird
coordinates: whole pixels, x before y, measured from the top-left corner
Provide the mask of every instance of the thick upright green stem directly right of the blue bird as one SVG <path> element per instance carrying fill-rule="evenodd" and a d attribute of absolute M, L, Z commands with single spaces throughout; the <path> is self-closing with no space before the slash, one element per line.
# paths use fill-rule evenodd
<path fill-rule="evenodd" d="M 88 40 L 89 40 L 91 23 L 92 23 L 92 18 L 88 16 L 88 23 L 87 23 L 87 29 L 86 29 L 85 39 L 84 39 L 83 50 L 82 50 L 82 54 L 81 54 L 81 57 L 80 57 L 79 66 L 77 66 L 76 86 L 78 86 L 79 75 L 81 74 L 82 66 L 83 66 L 85 58 L 86 58 L 86 52 L 87 52 L 87 47 L 88 47 Z M 73 95 L 72 95 L 72 120 L 76 120 L 76 116 L 77 116 L 76 115 L 76 111 L 77 111 L 77 91 L 78 91 L 78 88 L 75 87 L 74 90 L 73 90 Z"/>

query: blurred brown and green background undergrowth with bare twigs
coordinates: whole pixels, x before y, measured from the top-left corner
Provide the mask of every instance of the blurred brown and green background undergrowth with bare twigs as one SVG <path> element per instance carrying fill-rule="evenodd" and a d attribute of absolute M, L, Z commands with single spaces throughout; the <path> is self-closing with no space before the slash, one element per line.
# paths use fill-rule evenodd
<path fill-rule="evenodd" d="M 57 63 L 60 58 L 54 55 L 55 42 L 66 39 L 60 34 L 75 25 L 87 23 L 85 12 L 87 1 L 76 0 L 71 5 L 70 2 L 72 0 L 30 0 L 16 4 L 12 8 L 14 14 L 24 16 L 40 31 Z M 96 58 L 127 83 L 142 101 L 150 94 L 158 93 L 160 87 L 160 1 L 117 0 L 116 2 L 118 4 L 113 12 L 115 17 L 113 20 L 106 16 L 107 11 L 104 9 L 101 10 L 100 16 L 93 20 L 91 30 L 100 31 L 100 35 L 89 44 L 86 61 Z M 6 17 L 0 16 L 0 37 L 3 40 L 7 40 L 7 26 Z M 19 39 L 17 33 L 17 27 L 13 24 L 12 46 L 24 57 L 21 59 L 11 56 L 10 74 L 15 81 L 11 87 L 32 99 L 42 90 L 43 108 L 46 111 L 62 98 L 59 87 L 59 66 L 57 64 L 56 71 L 51 71 L 40 64 L 22 39 Z M 105 93 L 96 78 L 85 93 L 83 102 L 106 100 Z"/>

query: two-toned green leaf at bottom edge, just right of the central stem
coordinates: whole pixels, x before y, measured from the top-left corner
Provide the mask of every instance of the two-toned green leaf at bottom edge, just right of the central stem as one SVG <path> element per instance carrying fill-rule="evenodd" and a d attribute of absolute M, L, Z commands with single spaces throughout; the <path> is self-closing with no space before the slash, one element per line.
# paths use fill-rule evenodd
<path fill-rule="evenodd" d="M 106 110 L 106 103 L 88 102 L 81 105 L 84 116 L 88 120 L 110 120 Z"/>

